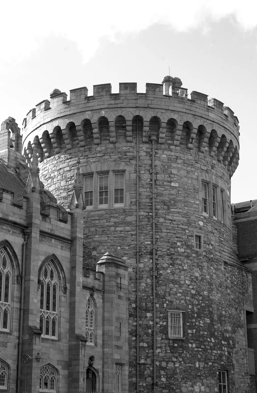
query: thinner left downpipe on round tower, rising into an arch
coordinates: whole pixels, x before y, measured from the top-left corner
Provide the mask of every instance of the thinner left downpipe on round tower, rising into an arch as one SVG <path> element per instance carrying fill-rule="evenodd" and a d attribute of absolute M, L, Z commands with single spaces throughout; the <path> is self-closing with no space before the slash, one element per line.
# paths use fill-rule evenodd
<path fill-rule="evenodd" d="M 139 119 L 137 118 L 137 393 L 139 393 Z M 132 379 L 131 379 L 132 386 Z"/>

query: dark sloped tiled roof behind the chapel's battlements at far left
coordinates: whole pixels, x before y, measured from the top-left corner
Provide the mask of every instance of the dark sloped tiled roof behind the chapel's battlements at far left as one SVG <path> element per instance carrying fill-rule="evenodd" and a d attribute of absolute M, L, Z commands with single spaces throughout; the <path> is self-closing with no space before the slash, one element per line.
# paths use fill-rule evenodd
<path fill-rule="evenodd" d="M 22 205 L 26 196 L 25 183 L 18 173 L 8 171 L 7 166 L 0 160 L 0 189 L 14 194 L 13 203 Z"/>

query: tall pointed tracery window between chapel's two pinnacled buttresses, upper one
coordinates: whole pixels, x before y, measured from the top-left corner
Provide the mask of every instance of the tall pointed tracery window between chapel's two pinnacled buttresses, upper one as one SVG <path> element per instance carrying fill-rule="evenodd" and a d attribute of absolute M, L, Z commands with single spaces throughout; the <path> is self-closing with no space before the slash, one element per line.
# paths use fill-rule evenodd
<path fill-rule="evenodd" d="M 41 273 L 40 330 L 42 337 L 58 338 L 59 278 L 52 261 Z"/>

